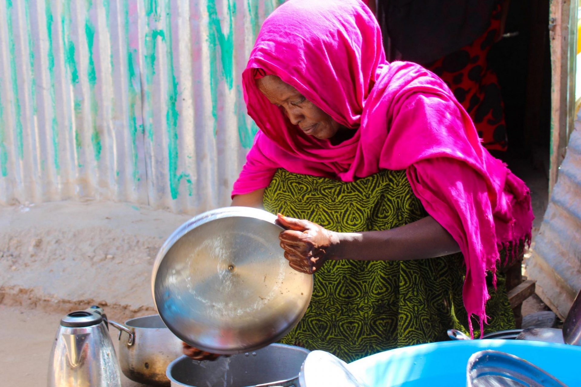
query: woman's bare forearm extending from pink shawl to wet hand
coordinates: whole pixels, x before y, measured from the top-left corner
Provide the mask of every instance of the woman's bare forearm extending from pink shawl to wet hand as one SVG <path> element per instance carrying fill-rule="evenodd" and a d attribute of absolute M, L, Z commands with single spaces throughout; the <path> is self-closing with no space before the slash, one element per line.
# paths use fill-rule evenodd
<path fill-rule="evenodd" d="M 335 259 L 407 261 L 435 258 L 460 251 L 450 233 L 432 216 L 385 231 L 336 233 Z"/>

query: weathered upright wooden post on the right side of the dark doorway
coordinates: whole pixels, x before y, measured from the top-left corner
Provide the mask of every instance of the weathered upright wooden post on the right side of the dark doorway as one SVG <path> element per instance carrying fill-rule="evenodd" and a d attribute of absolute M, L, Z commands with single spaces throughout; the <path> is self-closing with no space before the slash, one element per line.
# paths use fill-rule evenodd
<path fill-rule="evenodd" d="M 575 59 L 578 0 L 552 0 L 549 37 L 551 41 L 551 146 L 549 193 L 557 182 L 565 158 L 575 114 Z"/>

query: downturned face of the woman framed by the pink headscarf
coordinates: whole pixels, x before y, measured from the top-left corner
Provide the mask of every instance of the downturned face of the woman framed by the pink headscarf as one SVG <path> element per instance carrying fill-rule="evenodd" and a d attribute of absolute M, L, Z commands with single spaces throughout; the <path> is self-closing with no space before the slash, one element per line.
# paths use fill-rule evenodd
<path fill-rule="evenodd" d="M 256 80 L 261 93 L 276 106 L 282 107 L 286 117 L 309 136 L 330 139 L 343 126 L 330 115 L 307 100 L 297 89 L 282 81 L 276 75 L 267 75 Z"/>

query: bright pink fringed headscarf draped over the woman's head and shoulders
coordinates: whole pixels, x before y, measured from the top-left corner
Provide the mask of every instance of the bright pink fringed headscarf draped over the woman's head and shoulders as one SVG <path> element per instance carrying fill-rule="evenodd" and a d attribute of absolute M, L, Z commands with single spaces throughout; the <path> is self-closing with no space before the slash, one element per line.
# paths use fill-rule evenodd
<path fill-rule="evenodd" d="M 333 145 L 305 135 L 257 89 L 256 68 L 356 130 L 353 138 Z M 482 331 L 486 272 L 496 272 L 498 248 L 530 241 L 530 194 L 482 147 L 446 84 L 417 64 L 386 62 L 379 26 L 360 0 L 281 5 L 264 21 L 242 81 L 260 131 L 232 195 L 267 187 L 277 168 L 343 182 L 406 169 L 428 214 L 460 245 L 464 306 Z"/>

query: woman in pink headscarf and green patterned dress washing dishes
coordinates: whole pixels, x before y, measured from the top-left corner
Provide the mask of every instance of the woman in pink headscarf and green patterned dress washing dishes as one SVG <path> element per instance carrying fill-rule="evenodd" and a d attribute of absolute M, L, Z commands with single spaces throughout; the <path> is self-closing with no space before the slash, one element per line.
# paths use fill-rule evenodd
<path fill-rule="evenodd" d="M 472 334 L 472 320 L 480 333 L 514 326 L 495 273 L 499 248 L 522 254 L 530 238 L 529 191 L 439 78 L 385 61 L 363 3 L 281 5 L 242 81 L 260 132 L 232 204 L 285 214 L 285 258 L 314 273 L 282 342 L 352 361 Z"/>

